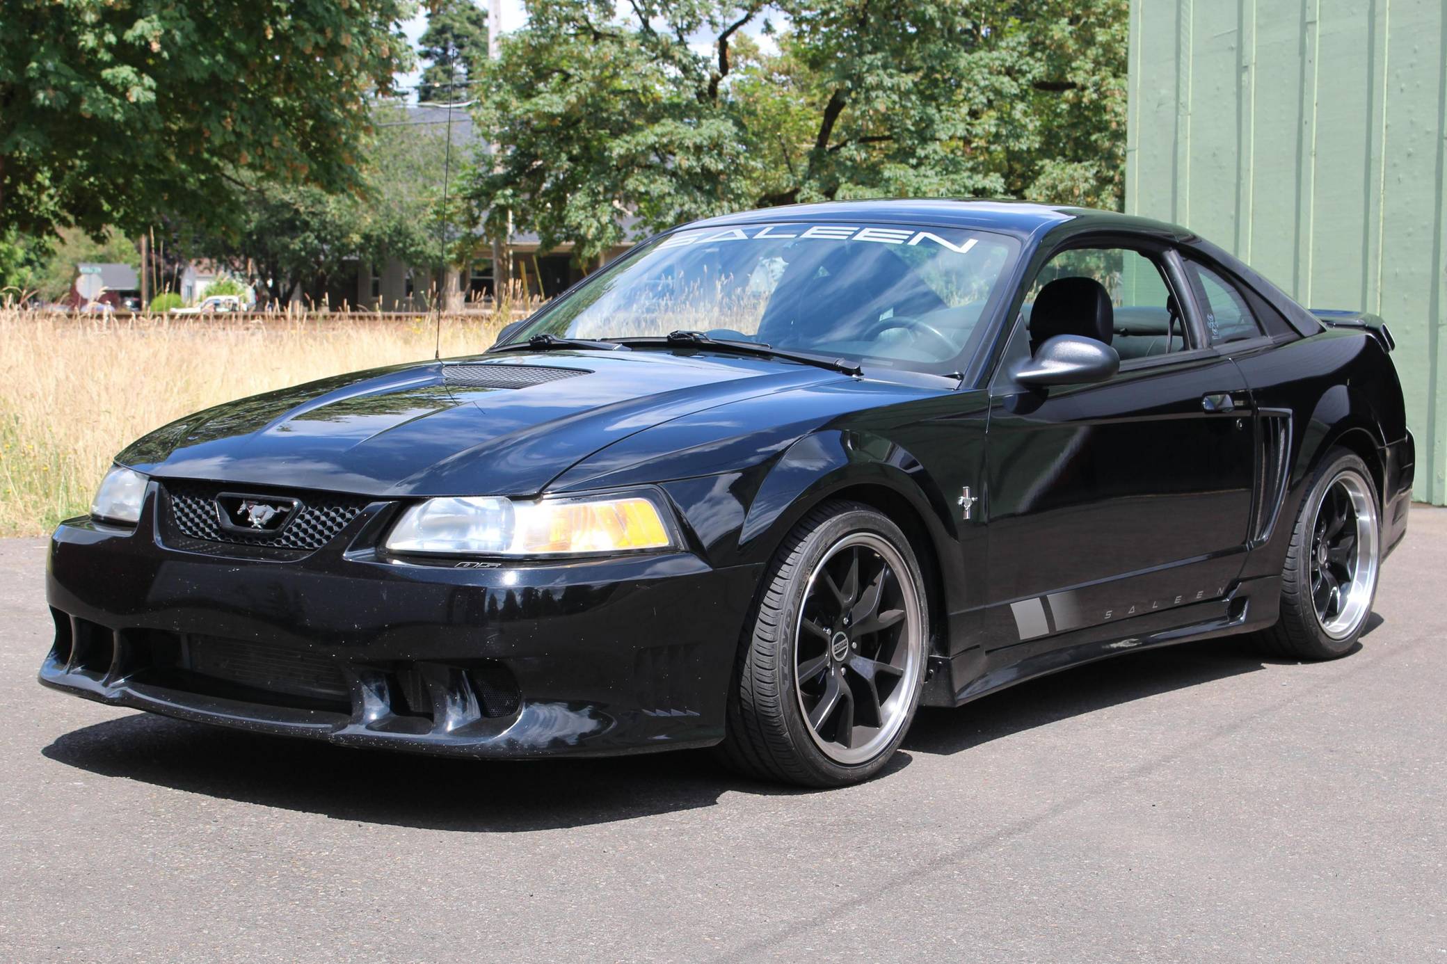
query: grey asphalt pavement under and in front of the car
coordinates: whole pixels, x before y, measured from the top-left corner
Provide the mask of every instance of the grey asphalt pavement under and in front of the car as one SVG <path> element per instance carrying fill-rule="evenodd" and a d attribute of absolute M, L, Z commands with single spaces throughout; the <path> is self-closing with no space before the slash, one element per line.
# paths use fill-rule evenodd
<path fill-rule="evenodd" d="M 43 566 L 0 541 L 0 961 L 1447 964 L 1447 510 L 1343 660 L 1121 656 L 833 792 L 109 709 L 35 682 Z"/>

